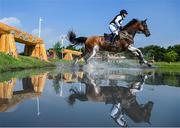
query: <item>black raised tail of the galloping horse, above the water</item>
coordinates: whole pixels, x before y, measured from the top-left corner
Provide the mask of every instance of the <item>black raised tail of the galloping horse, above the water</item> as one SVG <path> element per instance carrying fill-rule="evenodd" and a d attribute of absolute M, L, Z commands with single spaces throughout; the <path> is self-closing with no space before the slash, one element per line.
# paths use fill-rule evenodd
<path fill-rule="evenodd" d="M 87 40 L 87 37 L 76 38 L 76 34 L 73 31 L 68 32 L 67 38 L 73 45 L 83 45 Z"/>

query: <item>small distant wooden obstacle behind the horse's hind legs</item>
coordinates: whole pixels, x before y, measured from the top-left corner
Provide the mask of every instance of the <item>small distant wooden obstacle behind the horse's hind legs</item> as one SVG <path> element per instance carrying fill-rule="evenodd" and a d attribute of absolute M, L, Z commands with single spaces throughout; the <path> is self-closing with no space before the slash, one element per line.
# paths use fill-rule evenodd
<path fill-rule="evenodd" d="M 73 56 L 80 56 L 82 54 L 82 52 L 69 49 L 63 49 L 62 53 L 65 54 L 64 60 L 73 60 Z"/>

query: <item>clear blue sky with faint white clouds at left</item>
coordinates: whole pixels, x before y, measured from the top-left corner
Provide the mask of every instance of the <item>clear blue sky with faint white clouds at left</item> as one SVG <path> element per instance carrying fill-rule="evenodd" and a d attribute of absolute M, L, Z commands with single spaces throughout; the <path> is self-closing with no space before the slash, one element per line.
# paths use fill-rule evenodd
<path fill-rule="evenodd" d="M 0 0 L 0 22 L 38 35 L 42 17 L 41 37 L 50 48 L 72 29 L 77 36 L 110 33 L 108 24 L 121 9 L 129 13 L 123 25 L 148 19 L 151 36 L 137 34 L 135 47 L 180 44 L 180 0 Z"/>

